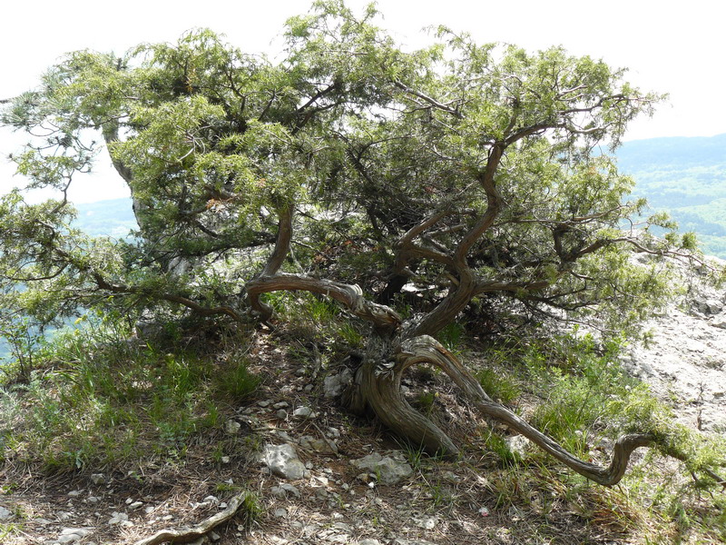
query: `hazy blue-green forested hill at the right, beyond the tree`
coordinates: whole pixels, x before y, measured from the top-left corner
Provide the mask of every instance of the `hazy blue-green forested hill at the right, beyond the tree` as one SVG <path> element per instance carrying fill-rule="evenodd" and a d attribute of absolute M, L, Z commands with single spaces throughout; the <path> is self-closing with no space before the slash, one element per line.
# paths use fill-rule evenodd
<path fill-rule="evenodd" d="M 635 140 L 617 155 L 635 196 L 697 233 L 704 253 L 726 259 L 726 134 Z"/>

